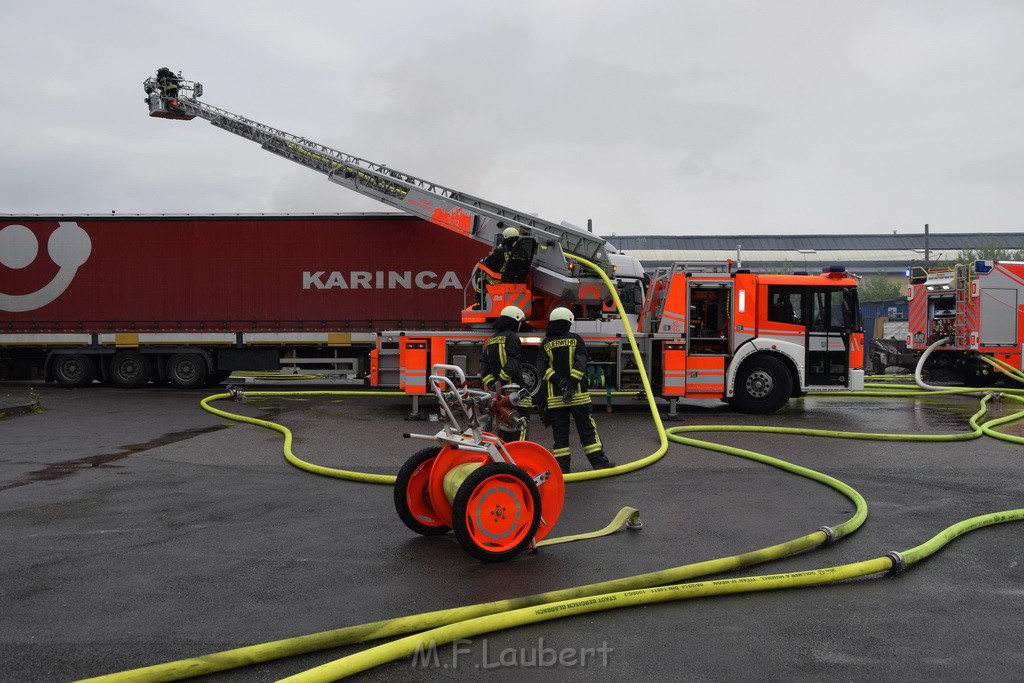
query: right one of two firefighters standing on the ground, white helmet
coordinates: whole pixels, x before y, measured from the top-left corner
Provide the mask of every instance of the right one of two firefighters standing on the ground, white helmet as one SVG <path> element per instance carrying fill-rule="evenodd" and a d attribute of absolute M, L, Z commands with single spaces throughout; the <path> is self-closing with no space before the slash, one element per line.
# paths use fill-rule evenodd
<path fill-rule="evenodd" d="M 570 471 L 569 420 L 575 422 L 583 453 L 595 470 L 614 467 L 604 455 L 587 389 L 587 346 L 583 337 L 569 332 L 575 317 L 559 306 L 548 317 L 548 332 L 537 354 L 541 378 L 541 422 L 551 427 L 553 455 L 562 472 Z"/>

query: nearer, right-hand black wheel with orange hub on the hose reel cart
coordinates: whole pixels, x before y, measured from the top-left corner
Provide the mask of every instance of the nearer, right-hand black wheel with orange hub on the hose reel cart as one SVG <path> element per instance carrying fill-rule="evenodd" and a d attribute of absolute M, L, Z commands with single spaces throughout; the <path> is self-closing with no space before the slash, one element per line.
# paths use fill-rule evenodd
<path fill-rule="evenodd" d="M 541 492 L 522 468 L 488 463 L 459 486 L 452 525 L 463 550 L 484 562 L 512 559 L 541 525 Z"/>

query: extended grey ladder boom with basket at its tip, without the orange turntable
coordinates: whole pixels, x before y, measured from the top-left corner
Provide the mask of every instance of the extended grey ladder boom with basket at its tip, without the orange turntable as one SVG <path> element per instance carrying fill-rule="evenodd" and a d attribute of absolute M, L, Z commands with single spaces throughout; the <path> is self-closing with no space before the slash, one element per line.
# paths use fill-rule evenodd
<path fill-rule="evenodd" d="M 552 223 L 200 102 L 203 86 L 194 81 L 158 73 L 143 87 L 151 116 L 206 119 L 340 185 L 466 237 L 494 246 L 505 227 L 519 228 L 540 246 L 534 258 L 535 287 L 555 297 L 573 301 L 581 287 L 601 286 L 597 278 L 581 278 L 567 255 L 582 256 L 611 274 L 605 241 L 587 230 Z"/>

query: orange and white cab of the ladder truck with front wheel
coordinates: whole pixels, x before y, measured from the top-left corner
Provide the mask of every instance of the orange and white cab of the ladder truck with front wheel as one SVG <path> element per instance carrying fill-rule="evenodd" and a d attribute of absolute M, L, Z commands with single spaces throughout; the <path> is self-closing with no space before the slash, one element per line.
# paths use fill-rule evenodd
<path fill-rule="evenodd" d="M 731 266 L 677 263 L 655 272 L 639 331 L 649 336 L 664 396 L 772 413 L 809 390 L 863 388 L 853 278 L 842 268 L 811 276 Z"/>

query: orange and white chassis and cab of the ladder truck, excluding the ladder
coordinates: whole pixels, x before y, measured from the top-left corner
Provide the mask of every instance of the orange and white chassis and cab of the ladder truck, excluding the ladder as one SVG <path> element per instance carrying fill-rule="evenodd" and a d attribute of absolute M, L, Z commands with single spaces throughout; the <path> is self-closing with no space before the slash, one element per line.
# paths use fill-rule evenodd
<path fill-rule="evenodd" d="M 677 263 L 655 271 L 635 300 L 637 315 L 628 317 L 651 388 L 672 412 L 680 398 L 711 398 L 771 413 L 810 390 L 863 388 L 856 282 L 842 268 L 781 275 L 735 269 L 727 261 Z M 616 316 L 577 318 L 574 329 L 587 342 L 592 390 L 642 389 Z M 384 332 L 372 362 L 375 383 L 425 393 L 431 365 L 442 359 L 474 375 L 488 336 L 483 330 Z M 521 337 L 531 383 L 543 332 Z"/>

